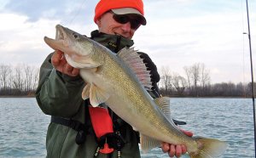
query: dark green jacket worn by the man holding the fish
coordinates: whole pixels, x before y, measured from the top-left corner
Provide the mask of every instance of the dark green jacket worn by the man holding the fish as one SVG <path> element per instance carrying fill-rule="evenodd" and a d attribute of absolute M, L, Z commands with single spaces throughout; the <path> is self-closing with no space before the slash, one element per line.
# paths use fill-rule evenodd
<path fill-rule="evenodd" d="M 124 37 L 107 35 L 98 31 L 93 31 L 91 38 L 110 48 L 113 52 L 118 52 L 121 48 L 133 45 L 131 40 Z M 79 76 L 67 76 L 56 71 L 50 63 L 51 55 L 49 54 L 44 60 L 40 69 L 36 92 L 39 107 L 47 115 L 72 118 L 86 123 L 84 107 L 87 104 L 81 98 L 84 81 Z M 78 145 L 75 142 L 76 135 L 77 131 L 71 127 L 50 122 L 46 138 L 47 157 L 93 157 L 98 146 L 95 137 L 88 134 L 84 144 Z M 131 127 L 126 127 L 124 138 L 126 144 L 121 150 L 121 157 L 140 157 L 137 133 Z M 108 157 L 108 155 L 99 154 L 97 157 Z M 112 157 L 117 157 L 116 151 L 113 152 Z"/>

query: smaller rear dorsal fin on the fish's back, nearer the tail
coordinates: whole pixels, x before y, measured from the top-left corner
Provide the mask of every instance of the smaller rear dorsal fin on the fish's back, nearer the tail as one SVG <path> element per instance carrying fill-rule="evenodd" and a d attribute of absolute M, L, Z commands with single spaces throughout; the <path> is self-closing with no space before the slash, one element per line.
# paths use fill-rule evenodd
<path fill-rule="evenodd" d="M 168 118 L 171 121 L 172 116 L 171 116 L 171 109 L 170 109 L 170 98 L 168 97 L 156 98 L 154 99 L 154 103 L 157 104 L 160 110 L 163 111 L 166 118 Z"/>

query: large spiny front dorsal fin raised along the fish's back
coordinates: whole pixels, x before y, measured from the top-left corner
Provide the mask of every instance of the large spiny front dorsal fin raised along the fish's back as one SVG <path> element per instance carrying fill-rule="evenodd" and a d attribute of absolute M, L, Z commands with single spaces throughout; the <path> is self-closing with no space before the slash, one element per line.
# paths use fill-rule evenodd
<path fill-rule="evenodd" d="M 140 55 L 137 54 L 137 50 L 134 50 L 134 48 L 122 48 L 118 56 L 134 71 L 146 90 L 151 91 L 152 82 L 149 74 L 150 71 L 147 71 L 147 67 L 143 63 L 143 59 L 140 58 Z"/>

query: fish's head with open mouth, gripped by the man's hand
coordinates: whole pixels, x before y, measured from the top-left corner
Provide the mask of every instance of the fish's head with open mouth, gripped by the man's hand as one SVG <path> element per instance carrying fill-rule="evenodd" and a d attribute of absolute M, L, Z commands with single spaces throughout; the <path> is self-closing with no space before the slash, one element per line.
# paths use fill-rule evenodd
<path fill-rule="evenodd" d="M 56 25 L 55 39 L 44 37 L 44 42 L 50 48 L 63 52 L 68 64 L 75 68 L 95 68 L 102 65 L 91 59 L 95 54 L 95 42 L 62 25 Z"/>

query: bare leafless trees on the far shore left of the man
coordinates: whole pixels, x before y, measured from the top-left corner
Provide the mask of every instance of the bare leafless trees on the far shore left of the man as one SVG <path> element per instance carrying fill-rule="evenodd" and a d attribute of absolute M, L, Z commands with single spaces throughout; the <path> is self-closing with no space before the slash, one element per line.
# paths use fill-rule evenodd
<path fill-rule="evenodd" d="M 39 70 L 35 66 L 0 64 L 1 96 L 32 96 L 38 86 Z"/>

